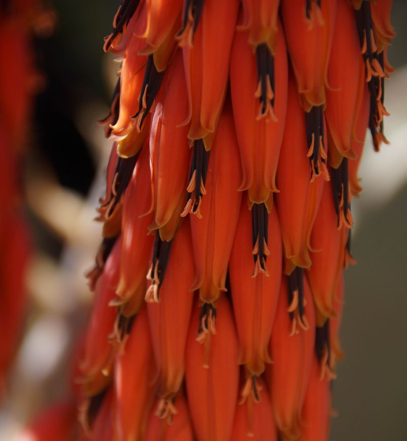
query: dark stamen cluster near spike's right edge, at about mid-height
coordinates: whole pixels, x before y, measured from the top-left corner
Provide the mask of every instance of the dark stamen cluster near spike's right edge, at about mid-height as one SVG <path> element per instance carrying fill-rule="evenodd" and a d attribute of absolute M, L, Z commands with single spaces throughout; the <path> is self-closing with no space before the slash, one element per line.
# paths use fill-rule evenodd
<path fill-rule="evenodd" d="M 338 228 L 343 212 L 345 224 L 352 226 L 351 203 L 349 194 L 349 160 L 343 158 L 338 168 L 331 169 L 332 191 L 334 195 L 335 211 L 338 216 Z"/>

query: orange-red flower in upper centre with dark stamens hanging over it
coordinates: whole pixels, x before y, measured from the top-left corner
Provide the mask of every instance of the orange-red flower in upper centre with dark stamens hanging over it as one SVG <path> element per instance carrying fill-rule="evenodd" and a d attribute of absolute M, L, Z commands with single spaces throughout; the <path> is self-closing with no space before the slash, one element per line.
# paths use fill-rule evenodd
<path fill-rule="evenodd" d="M 276 55 L 266 44 L 254 53 L 247 32 L 237 32 L 230 59 L 230 91 L 242 160 L 240 190 L 271 211 L 287 109 L 287 55 L 279 26 Z"/>

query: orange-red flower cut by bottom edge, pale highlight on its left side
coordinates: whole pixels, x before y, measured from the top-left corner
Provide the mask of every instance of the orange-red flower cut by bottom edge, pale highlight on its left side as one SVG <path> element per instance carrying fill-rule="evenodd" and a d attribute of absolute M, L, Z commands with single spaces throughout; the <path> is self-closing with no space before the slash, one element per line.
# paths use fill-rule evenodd
<path fill-rule="evenodd" d="M 154 354 L 147 308 L 134 320 L 124 351 L 114 367 L 115 424 L 120 441 L 145 439 L 150 406 L 153 404 Z"/>

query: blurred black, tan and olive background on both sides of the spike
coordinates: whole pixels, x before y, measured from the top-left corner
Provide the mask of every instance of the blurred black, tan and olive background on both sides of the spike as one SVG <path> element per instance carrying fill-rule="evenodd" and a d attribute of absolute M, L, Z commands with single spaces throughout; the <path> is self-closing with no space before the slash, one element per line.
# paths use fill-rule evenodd
<path fill-rule="evenodd" d="M 108 113 L 118 68 L 102 45 L 117 4 L 53 0 L 54 32 L 34 42 L 45 82 L 23 170 L 34 242 L 30 306 L 0 407 L 0 441 L 12 440 L 40 407 L 64 396 L 72 343 L 89 312 L 84 273 L 99 245 L 93 218 L 111 148 L 97 120 Z M 353 201 L 358 264 L 346 272 L 332 441 L 407 439 L 407 2 L 393 5 L 397 38 L 389 61 L 396 71 L 385 99 L 391 144 L 375 154 L 367 137 L 364 190 Z"/>

